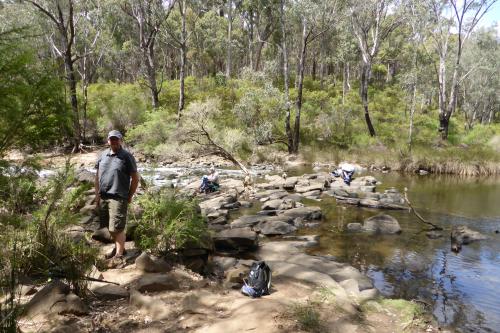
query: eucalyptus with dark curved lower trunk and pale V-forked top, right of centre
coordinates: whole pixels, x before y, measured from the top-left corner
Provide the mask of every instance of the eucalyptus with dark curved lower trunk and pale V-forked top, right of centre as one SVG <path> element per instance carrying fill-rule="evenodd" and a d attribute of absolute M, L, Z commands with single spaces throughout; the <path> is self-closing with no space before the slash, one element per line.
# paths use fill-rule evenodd
<path fill-rule="evenodd" d="M 368 110 L 368 83 L 372 65 L 380 44 L 400 24 L 397 3 L 394 0 L 353 1 L 349 4 L 351 24 L 361 52 L 361 77 L 359 94 L 365 121 L 371 136 L 375 136 Z"/>

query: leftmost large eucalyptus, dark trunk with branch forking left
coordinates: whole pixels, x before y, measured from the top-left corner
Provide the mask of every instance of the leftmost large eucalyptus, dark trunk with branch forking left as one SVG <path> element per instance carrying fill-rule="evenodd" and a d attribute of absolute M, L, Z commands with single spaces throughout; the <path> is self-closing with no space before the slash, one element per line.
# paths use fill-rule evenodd
<path fill-rule="evenodd" d="M 81 129 L 75 70 L 75 62 L 80 58 L 75 54 L 75 7 L 78 3 L 76 0 L 27 0 L 26 2 L 36 8 L 54 27 L 55 38 L 53 35 L 50 35 L 48 40 L 57 57 L 61 58 L 64 62 L 66 83 L 69 88 L 71 109 L 73 111 L 73 150 L 79 150 Z"/>

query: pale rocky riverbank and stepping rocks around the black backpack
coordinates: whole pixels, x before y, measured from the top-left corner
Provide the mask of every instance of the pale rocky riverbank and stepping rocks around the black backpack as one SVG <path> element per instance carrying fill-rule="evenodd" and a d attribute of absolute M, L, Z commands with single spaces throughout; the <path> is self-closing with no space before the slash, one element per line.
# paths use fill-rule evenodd
<path fill-rule="evenodd" d="M 79 180 L 91 182 L 88 166 L 80 167 Z M 377 192 L 377 181 L 370 176 L 359 177 L 347 187 L 326 171 L 286 177 L 268 175 L 270 169 L 257 169 L 265 172 L 251 186 L 243 186 L 237 172 L 233 176 L 229 175 L 233 171 L 223 173 L 221 191 L 209 195 L 196 194 L 198 177 L 189 176 L 193 181 L 186 181 L 186 169 L 182 169 L 184 174 L 172 174 L 172 180 L 183 179 L 175 183 L 180 191 L 198 196 L 213 245 L 185 249 L 182 264 L 173 264 L 140 253 L 129 238 L 121 267 L 89 272 L 102 282 L 90 284 L 90 296 L 85 301 L 60 281 L 23 286 L 26 312 L 20 321 L 21 330 L 298 332 L 311 330 L 303 325 L 300 315 L 305 309 L 317 314 L 316 331 L 437 332 L 424 317 L 415 317 L 411 302 L 396 304 L 380 298 L 371 280 L 354 267 L 328 256 L 307 255 L 305 250 L 317 245 L 318 236 L 295 235 L 298 229 L 322 222 L 321 209 L 303 201 L 314 202 L 330 195 L 353 205 L 403 209 L 401 194 L 395 189 Z M 107 244 L 109 234 L 99 225 L 92 199 L 90 190 L 81 209 L 84 217 L 66 232 L 75 240 L 92 235 L 90 245 L 104 254 L 113 245 Z M 235 214 L 249 207 L 255 213 Z M 362 227 L 379 228 L 385 222 L 377 223 L 365 222 Z M 389 224 L 393 230 L 394 221 Z M 130 237 L 131 232 L 128 234 Z M 273 285 L 269 296 L 251 299 L 239 292 L 253 262 L 246 258 L 265 260 L 270 265 Z"/>

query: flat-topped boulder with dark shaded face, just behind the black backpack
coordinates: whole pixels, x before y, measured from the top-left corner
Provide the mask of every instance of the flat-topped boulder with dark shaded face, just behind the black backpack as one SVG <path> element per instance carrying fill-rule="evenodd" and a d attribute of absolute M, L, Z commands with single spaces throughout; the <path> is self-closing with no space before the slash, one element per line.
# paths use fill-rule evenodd
<path fill-rule="evenodd" d="M 250 228 L 222 230 L 213 236 L 217 249 L 252 250 L 258 245 L 257 233 Z"/>

